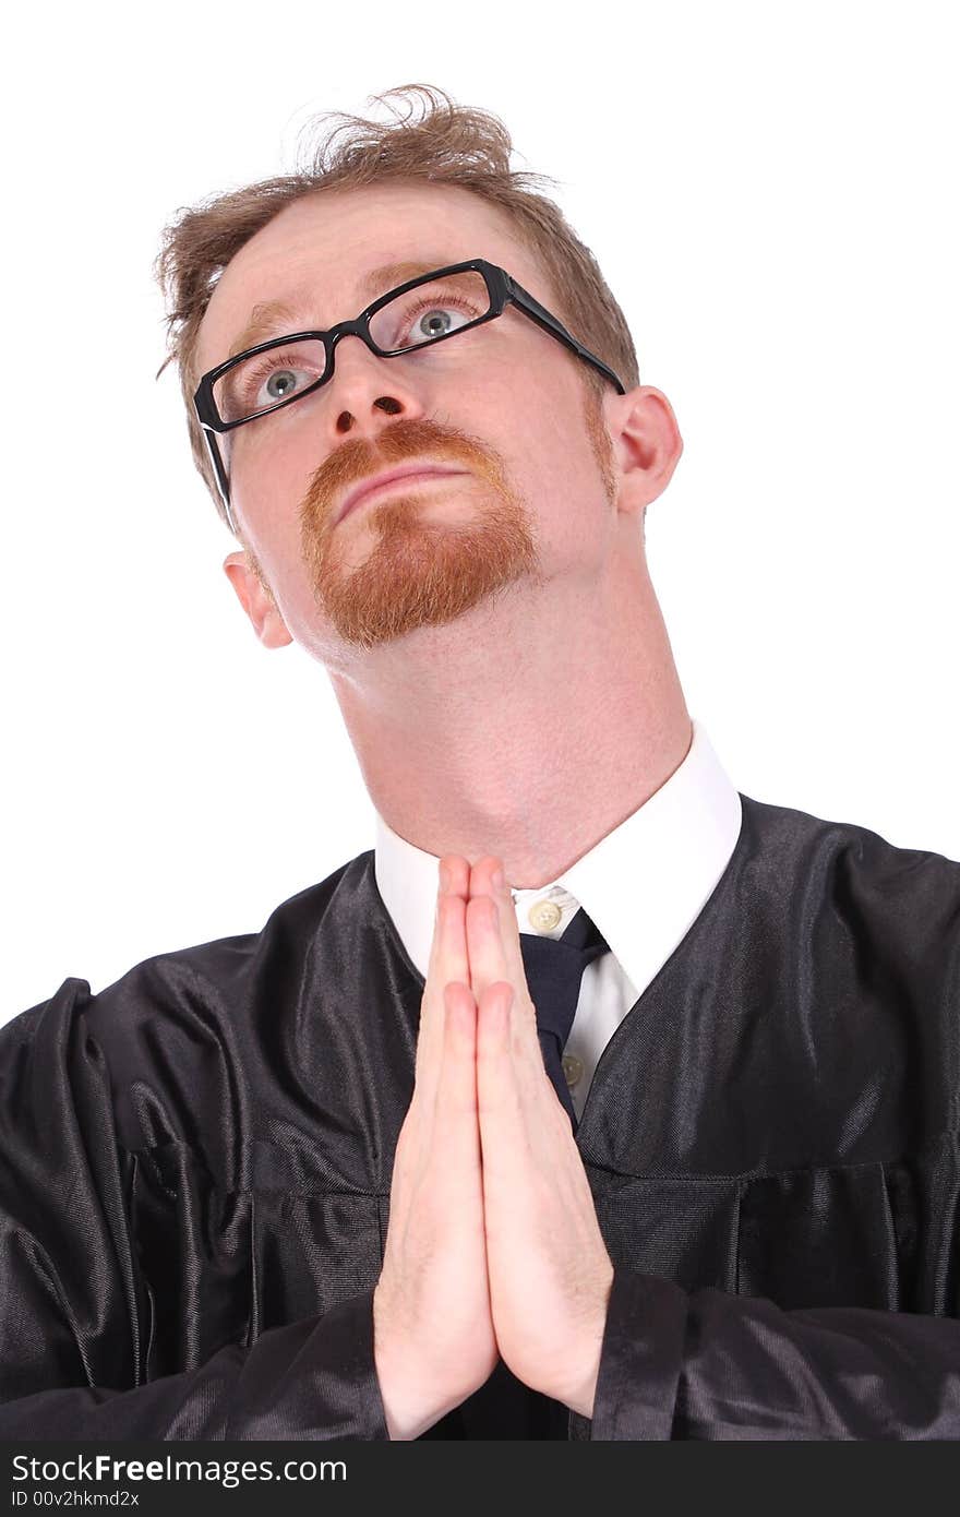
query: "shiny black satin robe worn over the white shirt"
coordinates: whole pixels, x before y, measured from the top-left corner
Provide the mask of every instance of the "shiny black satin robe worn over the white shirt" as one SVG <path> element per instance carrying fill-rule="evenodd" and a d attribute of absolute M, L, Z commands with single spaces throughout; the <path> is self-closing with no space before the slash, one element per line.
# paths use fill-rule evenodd
<path fill-rule="evenodd" d="M 742 801 L 576 1135 L 593 1421 L 499 1365 L 426 1438 L 960 1437 L 960 863 Z M 0 1437 L 387 1437 L 422 991 L 369 851 L 0 1029 Z"/>

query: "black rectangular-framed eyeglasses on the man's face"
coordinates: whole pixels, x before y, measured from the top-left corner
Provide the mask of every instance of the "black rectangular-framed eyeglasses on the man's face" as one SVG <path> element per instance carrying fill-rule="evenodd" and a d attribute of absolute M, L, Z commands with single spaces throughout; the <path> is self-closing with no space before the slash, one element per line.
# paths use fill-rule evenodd
<path fill-rule="evenodd" d="M 237 426 L 294 405 L 325 385 L 334 375 L 334 352 L 341 337 L 359 337 L 378 358 L 397 358 L 491 322 L 504 314 L 507 305 L 516 305 L 578 358 L 599 369 L 619 394 L 626 393 L 613 369 L 578 343 L 563 322 L 551 316 L 505 269 L 485 258 L 434 269 L 378 296 L 352 322 L 338 322 L 328 332 L 293 332 L 258 343 L 203 375 L 194 394 L 194 410 L 231 531 L 238 536 L 231 511 L 231 482 L 217 444 L 218 432 L 232 432 Z"/>

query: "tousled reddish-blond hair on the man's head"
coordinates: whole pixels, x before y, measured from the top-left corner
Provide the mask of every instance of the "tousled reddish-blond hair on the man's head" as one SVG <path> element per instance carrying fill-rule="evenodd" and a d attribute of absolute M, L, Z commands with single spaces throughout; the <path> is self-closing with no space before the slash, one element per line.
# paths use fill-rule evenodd
<path fill-rule="evenodd" d="M 560 320 L 620 376 L 628 390 L 640 382 L 629 329 L 596 258 L 560 208 L 529 188 L 546 176 L 510 168 L 513 143 L 504 123 L 485 111 L 456 105 L 443 90 L 431 85 L 402 85 L 370 100 L 384 103 L 394 96 L 409 106 L 402 118 L 394 111 L 399 124 L 325 112 L 309 124 L 322 124 L 331 115 L 341 124 L 320 138 L 305 168 L 261 179 L 182 209 L 164 229 L 155 273 L 167 302 L 168 356 L 159 373 L 170 361 L 177 364 L 194 463 L 224 522 L 223 502 L 193 407 L 200 381 L 196 372 L 197 334 L 217 279 L 231 258 L 285 206 L 306 194 L 353 190 L 388 179 L 428 179 L 472 191 L 499 208 L 517 240 L 538 259 Z M 419 120 L 414 117 L 417 96 L 426 100 Z M 587 394 L 595 397 L 596 405 L 608 381 L 590 364 L 582 369 Z M 590 411 L 587 419 L 588 423 L 593 419 Z"/>

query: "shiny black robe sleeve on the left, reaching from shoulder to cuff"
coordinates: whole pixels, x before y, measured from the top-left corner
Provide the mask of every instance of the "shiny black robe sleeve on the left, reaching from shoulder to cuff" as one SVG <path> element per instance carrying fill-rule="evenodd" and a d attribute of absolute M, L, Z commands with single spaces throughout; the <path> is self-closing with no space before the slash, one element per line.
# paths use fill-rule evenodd
<path fill-rule="evenodd" d="M 0 1438 L 387 1438 L 373 1291 L 146 1377 L 149 1309 L 89 986 L 0 1029 Z"/>

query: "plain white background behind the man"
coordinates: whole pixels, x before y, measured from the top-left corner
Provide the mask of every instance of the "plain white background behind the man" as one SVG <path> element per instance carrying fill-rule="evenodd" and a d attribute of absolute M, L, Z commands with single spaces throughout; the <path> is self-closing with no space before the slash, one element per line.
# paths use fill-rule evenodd
<path fill-rule="evenodd" d="M 179 206 L 408 82 L 558 181 L 673 404 L 648 554 L 737 787 L 960 857 L 955 6 L 560 14 L 8 20 L 0 1021 L 256 931 L 373 846 L 323 667 L 267 654 L 221 572 L 150 264 Z"/>

